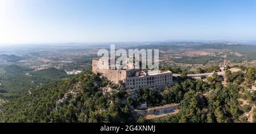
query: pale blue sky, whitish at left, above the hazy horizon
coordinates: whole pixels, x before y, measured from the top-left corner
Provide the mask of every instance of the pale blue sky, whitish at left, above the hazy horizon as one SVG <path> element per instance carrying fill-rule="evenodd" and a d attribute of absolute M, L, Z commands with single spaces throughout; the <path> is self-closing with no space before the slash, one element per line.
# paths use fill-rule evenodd
<path fill-rule="evenodd" d="M 256 40 L 256 1 L 0 1 L 0 44 L 159 40 Z"/>

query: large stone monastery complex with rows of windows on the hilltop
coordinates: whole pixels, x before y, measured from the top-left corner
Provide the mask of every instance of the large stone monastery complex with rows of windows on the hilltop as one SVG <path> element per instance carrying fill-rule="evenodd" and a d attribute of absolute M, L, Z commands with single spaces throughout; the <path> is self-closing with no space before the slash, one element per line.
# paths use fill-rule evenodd
<path fill-rule="evenodd" d="M 172 72 L 171 71 L 160 71 L 160 70 L 139 70 L 134 69 L 134 64 L 128 64 L 127 69 L 117 68 L 110 69 L 108 67 L 101 69 L 100 64 L 106 64 L 109 61 L 102 60 L 99 58 L 93 58 L 92 71 L 94 74 L 100 73 L 113 83 L 118 83 L 122 80 L 125 84 L 126 89 L 135 88 L 156 88 L 163 89 L 167 85 L 173 84 Z"/>

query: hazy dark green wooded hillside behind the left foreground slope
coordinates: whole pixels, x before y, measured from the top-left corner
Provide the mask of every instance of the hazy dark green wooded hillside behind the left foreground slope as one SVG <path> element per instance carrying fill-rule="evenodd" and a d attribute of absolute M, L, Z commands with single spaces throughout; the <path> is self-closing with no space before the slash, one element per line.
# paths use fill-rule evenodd
<path fill-rule="evenodd" d="M 67 76 L 65 71 L 56 68 L 32 71 L 18 65 L 2 65 L 0 66 L 0 97 L 8 99 L 27 95 L 28 90 L 32 92 L 36 87 Z"/>

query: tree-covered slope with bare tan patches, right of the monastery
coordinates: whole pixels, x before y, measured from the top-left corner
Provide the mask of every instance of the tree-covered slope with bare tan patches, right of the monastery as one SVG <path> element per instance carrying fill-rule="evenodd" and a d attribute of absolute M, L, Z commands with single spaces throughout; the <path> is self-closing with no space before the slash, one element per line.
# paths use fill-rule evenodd
<path fill-rule="evenodd" d="M 226 70 L 205 81 L 185 80 L 163 92 L 167 102 L 180 102 L 178 114 L 147 122 L 256 122 L 256 69 Z M 146 121 L 145 121 L 146 122 Z"/>

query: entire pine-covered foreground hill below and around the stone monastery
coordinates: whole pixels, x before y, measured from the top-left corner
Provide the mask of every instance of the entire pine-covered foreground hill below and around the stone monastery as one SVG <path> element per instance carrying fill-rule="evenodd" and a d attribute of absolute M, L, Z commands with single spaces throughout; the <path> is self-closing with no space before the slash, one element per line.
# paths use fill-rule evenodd
<path fill-rule="evenodd" d="M 184 73 L 163 93 L 124 90 L 85 71 L 1 104 L 0 122 L 256 122 L 256 94 L 248 90 L 254 87 L 256 69 L 240 68 L 227 70 L 226 78 L 215 73 L 204 81 L 188 79 Z M 133 111 L 144 102 L 150 107 L 180 103 L 181 108 L 177 114 L 147 120 Z"/>

